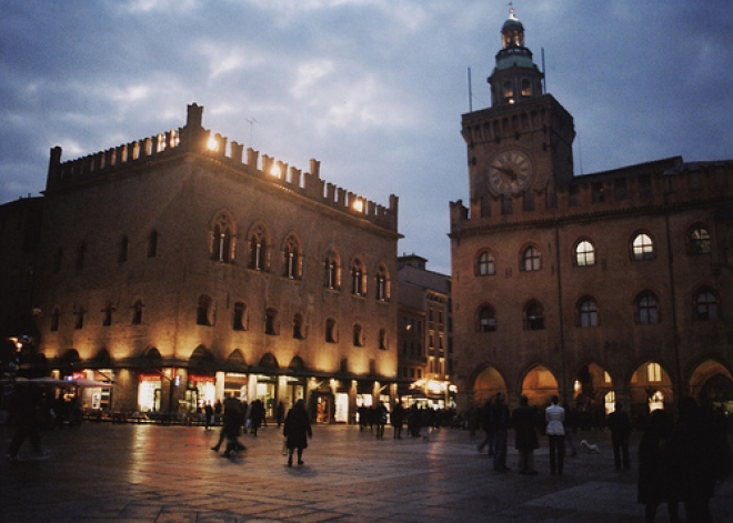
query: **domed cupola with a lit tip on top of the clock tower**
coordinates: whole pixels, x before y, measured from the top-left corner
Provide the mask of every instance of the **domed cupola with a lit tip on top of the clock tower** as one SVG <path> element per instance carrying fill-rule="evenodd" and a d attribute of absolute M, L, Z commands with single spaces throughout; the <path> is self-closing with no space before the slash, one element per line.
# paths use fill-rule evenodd
<path fill-rule="evenodd" d="M 542 95 L 544 74 L 532 61 L 532 51 L 524 46 L 524 26 L 514 16 L 513 7 L 510 7 L 509 18 L 501 28 L 501 40 L 496 66 L 488 79 L 491 105 L 514 104 Z"/>

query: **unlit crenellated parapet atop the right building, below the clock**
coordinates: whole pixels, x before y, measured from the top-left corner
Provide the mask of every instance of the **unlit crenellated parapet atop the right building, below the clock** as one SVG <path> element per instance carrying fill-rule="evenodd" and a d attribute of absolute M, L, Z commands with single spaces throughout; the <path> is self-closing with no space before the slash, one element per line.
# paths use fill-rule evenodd
<path fill-rule="evenodd" d="M 524 221 L 653 212 L 733 199 L 733 160 L 685 163 L 681 157 L 573 178 L 554 189 L 451 202 L 452 229 Z"/>

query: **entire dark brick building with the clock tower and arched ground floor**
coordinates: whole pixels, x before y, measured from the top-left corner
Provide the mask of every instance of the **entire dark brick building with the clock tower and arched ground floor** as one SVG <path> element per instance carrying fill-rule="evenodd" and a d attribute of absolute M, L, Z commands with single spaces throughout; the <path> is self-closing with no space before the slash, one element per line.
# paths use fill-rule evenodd
<path fill-rule="evenodd" d="M 572 117 L 511 13 L 492 105 L 463 114 L 470 201 L 451 203 L 462 406 L 499 390 L 643 416 L 682 394 L 733 411 L 733 161 L 573 177 Z"/>

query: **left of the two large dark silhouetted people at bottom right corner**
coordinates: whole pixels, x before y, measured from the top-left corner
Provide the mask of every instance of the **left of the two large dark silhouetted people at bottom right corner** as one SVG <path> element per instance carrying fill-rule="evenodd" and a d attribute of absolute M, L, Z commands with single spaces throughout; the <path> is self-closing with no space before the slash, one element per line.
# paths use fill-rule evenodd
<path fill-rule="evenodd" d="M 674 457 L 671 435 L 674 422 L 664 410 L 652 411 L 639 442 L 637 501 L 644 505 L 646 523 L 653 523 L 656 509 L 666 503 L 671 523 L 677 523 L 682 493 L 681 470 Z"/>

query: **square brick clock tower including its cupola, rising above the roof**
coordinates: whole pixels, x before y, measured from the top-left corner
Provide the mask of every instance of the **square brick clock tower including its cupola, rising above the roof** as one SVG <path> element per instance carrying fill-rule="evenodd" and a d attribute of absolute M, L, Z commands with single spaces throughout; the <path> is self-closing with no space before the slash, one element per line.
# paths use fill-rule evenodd
<path fill-rule="evenodd" d="M 573 177 L 573 117 L 543 92 L 544 73 L 524 46 L 524 26 L 509 10 L 502 49 L 488 81 L 491 108 L 463 114 L 471 201 L 553 190 Z M 486 211 L 490 212 L 490 211 Z"/>

